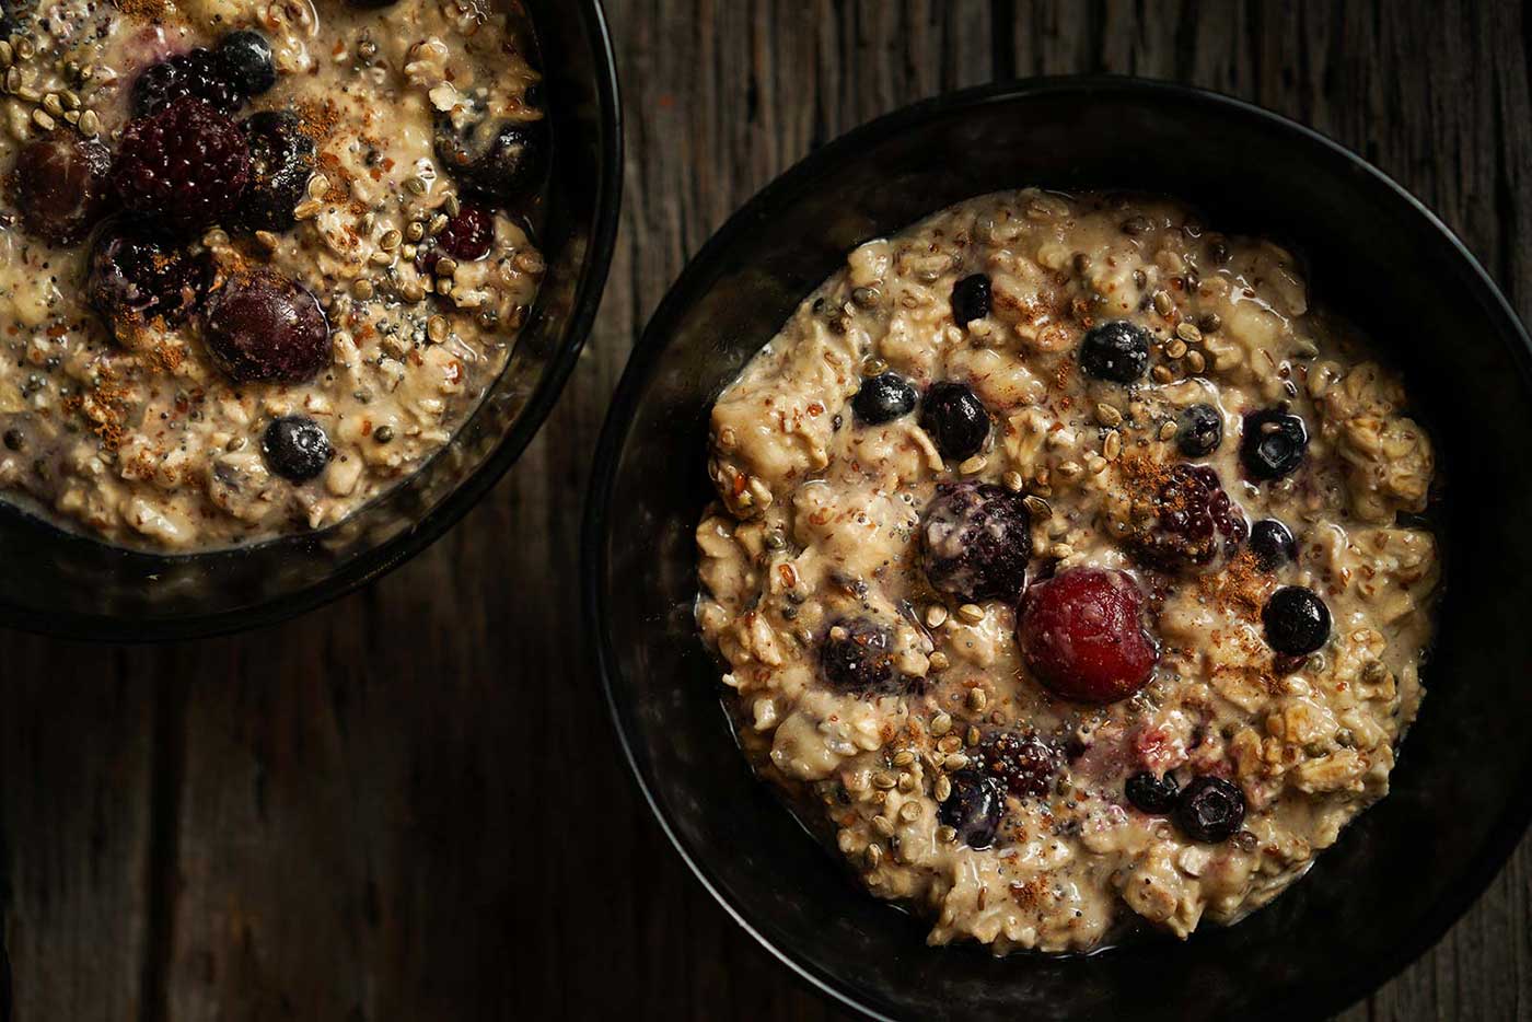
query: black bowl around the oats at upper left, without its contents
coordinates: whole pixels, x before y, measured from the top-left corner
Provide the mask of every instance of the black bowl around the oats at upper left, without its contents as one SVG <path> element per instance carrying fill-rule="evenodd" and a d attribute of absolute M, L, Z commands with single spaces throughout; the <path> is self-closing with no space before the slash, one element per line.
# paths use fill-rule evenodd
<path fill-rule="evenodd" d="M 89 639 L 233 631 L 351 591 L 418 553 L 521 455 L 558 400 L 607 280 L 622 192 L 617 77 L 599 0 L 524 0 L 545 74 L 547 276 L 504 374 L 453 441 L 340 526 L 248 550 L 153 556 L 0 504 L 0 625 Z"/>

